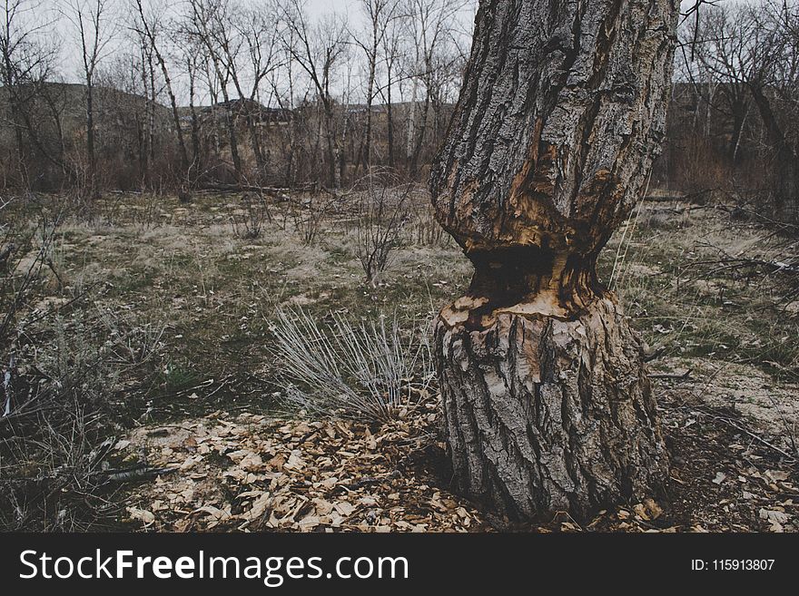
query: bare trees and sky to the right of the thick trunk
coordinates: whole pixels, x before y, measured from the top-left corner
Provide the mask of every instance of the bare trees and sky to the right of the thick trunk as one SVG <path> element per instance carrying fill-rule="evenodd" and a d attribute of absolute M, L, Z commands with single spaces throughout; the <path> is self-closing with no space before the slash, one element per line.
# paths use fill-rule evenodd
<path fill-rule="evenodd" d="M 696 5 L 678 31 L 666 153 L 656 179 L 721 190 L 795 216 L 799 6 Z"/>

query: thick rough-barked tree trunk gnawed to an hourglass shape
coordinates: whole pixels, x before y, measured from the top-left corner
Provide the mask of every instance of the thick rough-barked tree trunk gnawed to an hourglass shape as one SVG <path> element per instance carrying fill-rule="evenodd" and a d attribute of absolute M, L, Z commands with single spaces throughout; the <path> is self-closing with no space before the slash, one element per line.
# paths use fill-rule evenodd
<path fill-rule="evenodd" d="M 641 346 L 597 279 L 663 139 L 672 0 L 482 0 L 437 218 L 475 267 L 435 351 L 459 489 L 577 517 L 661 491 Z"/>

